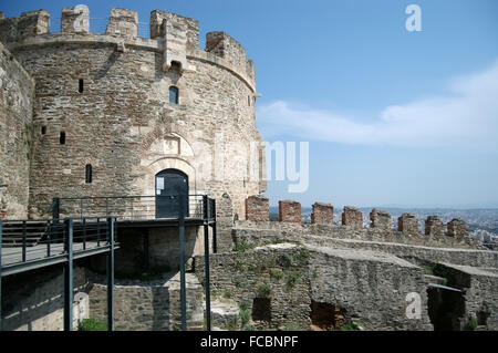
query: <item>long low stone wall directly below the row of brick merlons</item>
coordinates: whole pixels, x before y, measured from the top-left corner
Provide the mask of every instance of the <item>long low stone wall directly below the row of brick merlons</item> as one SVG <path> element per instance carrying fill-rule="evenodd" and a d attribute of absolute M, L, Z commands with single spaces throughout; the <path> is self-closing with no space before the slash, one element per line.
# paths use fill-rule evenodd
<path fill-rule="evenodd" d="M 298 242 L 322 247 L 365 249 L 392 253 L 404 259 L 425 259 L 475 267 L 498 268 L 498 251 L 483 250 L 452 237 L 406 236 L 401 232 L 384 235 L 372 229 L 351 229 L 342 226 L 299 226 L 283 222 L 237 221 L 235 243 L 264 246 Z"/>

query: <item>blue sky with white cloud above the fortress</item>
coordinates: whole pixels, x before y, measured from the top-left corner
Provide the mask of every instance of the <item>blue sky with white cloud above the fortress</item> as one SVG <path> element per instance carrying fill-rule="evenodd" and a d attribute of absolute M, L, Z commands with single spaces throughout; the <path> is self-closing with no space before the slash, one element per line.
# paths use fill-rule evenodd
<path fill-rule="evenodd" d="M 309 142 L 303 206 L 498 207 L 498 1 L 2 1 L 7 17 L 85 3 L 163 9 L 224 30 L 256 62 L 264 141 Z M 408 32 L 408 4 L 422 31 Z"/>

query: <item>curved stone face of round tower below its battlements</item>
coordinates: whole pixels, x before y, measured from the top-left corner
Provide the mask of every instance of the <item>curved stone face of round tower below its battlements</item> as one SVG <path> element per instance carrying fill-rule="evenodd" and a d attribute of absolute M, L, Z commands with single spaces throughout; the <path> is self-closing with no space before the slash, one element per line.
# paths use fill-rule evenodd
<path fill-rule="evenodd" d="M 196 62 L 196 72 L 164 75 L 156 51 L 117 53 L 106 43 L 62 42 L 15 55 L 37 80 L 31 195 L 39 211 L 56 196 L 154 195 L 155 174 L 168 167 L 187 173 L 191 193 L 228 191 L 240 217 L 245 198 L 259 193 L 259 180 L 246 174 L 250 139 L 259 137 L 250 90 L 229 71 Z M 178 105 L 168 103 L 170 85 L 179 87 Z M 180 154 L 164 147 L 172 134 L 186 142 Z"/>

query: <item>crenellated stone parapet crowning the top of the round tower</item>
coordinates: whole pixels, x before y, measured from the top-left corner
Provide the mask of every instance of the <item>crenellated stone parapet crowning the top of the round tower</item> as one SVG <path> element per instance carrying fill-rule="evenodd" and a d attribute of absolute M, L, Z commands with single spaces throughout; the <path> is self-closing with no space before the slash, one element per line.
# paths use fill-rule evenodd
<path fill-rule="evenodd" d="M 53 22 L 53 23 L 51 23 Z M 60 25 L 58 25 L 60 23 Z M 255 86 L 255 65 L 246 58 L 246 50 L 225 32 L 206 34 L 206 48 L 199 49 L 199 21 L 176 13 L 154 10 L 148 23 L 138 21 L 138 13 L 127 9 L 111 9 L 107 19 L 91 18 L 86 6 L 64 8 L 60 18 L 52 18 L 44 10 L 28 11 L 18 18 L 0 15 L 0 41 L 9 49 L 23 44 L 94 41 L 126 46 L 145 46 L 162 51 L 163 70 L 172 65 L 180 70 L 195 70 L 188 59 L 211 61 L 226 66 Z M 255 92 L 256 93 L 256 92 Z"/>

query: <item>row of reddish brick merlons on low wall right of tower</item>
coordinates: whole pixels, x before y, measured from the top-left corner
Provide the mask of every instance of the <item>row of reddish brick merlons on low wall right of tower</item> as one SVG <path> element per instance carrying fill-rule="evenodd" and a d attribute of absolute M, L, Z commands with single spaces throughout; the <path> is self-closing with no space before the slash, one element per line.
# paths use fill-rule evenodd
<path fill-rule="evenodd" d="M 247 199 L 246 222 L 243 227 L 271 230 L 283 230 L 286 233 L 314 233 L 374 241 L 402 242 L 435 247 L 475 248 L 469 237 L 467 222 L 453 219 L 446 225 L 437 216 L 429 216 L 424 222 L 424 233 L 419 230 L 419 221 L 412 214 L 403 214 L 397 219 L 397 228 L 393 226 L 392 216 L 381 209 L 372 209 L 370 225 L 364 221 L 363 214 L 355 207 L 345 206 L 340 224 L 334 221 L 334 207 L 331 204 L 315 203 L 312 207 L 311 225 L 301 224 L 301 205 L 297 201 L 279 201 L 279 221 L 269 217 L 269 200 L 261 196 Z M 299 236 L 298 236 L 299 238 Z"/>

